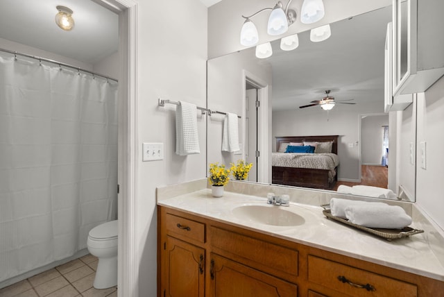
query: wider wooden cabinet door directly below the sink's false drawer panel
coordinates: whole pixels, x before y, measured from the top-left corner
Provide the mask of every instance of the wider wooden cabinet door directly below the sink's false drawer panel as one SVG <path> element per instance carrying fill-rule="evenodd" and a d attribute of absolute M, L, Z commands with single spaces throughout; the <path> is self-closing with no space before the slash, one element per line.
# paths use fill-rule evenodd
<path fill-rule="evenodd" d="M 210 277 L 214 297 L 298 296 L 296 285 L 215 254 Z"/>

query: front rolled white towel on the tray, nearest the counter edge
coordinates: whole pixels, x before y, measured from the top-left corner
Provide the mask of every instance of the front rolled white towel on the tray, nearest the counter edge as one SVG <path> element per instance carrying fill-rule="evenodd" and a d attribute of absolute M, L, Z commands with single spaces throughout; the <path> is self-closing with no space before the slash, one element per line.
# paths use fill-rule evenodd
<path fill-rule="evenodd" d="M 398 205 L 350 205 L 345 207 L 345 217 L 369 228 L 400 229 L 411 224 L 411 217 Z"/>

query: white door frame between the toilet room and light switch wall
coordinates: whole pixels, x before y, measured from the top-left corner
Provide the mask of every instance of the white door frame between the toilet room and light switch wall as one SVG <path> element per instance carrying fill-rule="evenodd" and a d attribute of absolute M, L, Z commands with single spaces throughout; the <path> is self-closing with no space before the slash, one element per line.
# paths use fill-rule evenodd
<path fill-rule="evenodd" d="M 137 248 L 137 10 L 134 0 L 92 0 L 119 15 L 117 295 L 139 295 Z"/>

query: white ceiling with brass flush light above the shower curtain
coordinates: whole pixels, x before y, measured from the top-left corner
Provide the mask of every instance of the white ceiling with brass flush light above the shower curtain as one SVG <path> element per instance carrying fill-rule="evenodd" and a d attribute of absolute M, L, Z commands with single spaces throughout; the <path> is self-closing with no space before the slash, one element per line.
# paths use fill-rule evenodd
<path fill-rule="evenodd" d="M 73 10 L 71 31 L 54 21 L 58 5 Z M 117 51 L 119 17 L 91 0 L 1 0 L 0 37 L 94 64 Z"/>

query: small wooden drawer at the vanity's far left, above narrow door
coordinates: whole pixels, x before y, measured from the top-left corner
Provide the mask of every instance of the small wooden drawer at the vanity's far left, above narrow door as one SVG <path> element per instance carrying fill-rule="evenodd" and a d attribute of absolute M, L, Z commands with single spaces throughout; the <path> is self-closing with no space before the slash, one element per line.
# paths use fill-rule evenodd
<path fill-rule="evenodd" d="M 168 232 L 205 243 L 205 223 L 167 214 L 165 216 L 165 225 Z"/>

